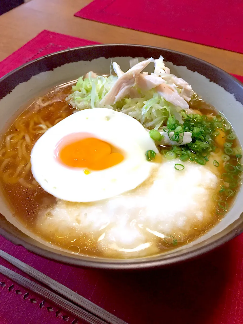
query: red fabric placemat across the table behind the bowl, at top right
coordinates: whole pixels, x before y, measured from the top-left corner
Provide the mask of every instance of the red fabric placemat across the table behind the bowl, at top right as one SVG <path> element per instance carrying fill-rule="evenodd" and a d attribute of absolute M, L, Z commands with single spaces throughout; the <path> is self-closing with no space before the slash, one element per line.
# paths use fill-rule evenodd
<path fill-rule="evenodd" d="M 243 53 L 242 13 L 242 0 L 94 0 L 75 16 Z"/>

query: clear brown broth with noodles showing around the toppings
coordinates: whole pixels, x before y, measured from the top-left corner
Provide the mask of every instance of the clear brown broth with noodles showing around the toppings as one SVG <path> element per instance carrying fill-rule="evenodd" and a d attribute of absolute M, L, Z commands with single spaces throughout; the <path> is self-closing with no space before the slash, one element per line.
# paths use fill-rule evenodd
<path fill-rule="evenodd" d="M 71 253 L 103 257 L 103 253 L 97 249 L 96 240 L 86 233 L 77 236 L 75 231 L 67 230 L 65 232 L 62 230 L 50 236 L 36 225 L 40 214 L 52 207 L 56 203 L 56 199 L 45 192 L 33 178 L 30 170 L 30 152 L 33 145 L 48 128 L 75 111 L 65 101 L 65 98 L 71 93 L 73 83 L 56 87 L 45 96 L 37 98 L 9 127 L 3 136 L 4 140 L 0 148 L 0 182 L 6 201 L 10 204 L 15 217 L 30 232 L 41 237 L 47 243 Z M 212 119 L 218 115 L 218 112 L 201 98 L 192 100 L 190 108 L 193 113 L 211 116 Z M 181 231 L 171 233 L 164 239 L 158 238 L 159 253 L 175 249 L 202 237 L 223 219 L 234 201 L 243 178 L 240 152 L 238 157 L 230 155 L 227 161 L 220 160 L 220 156 L 224 154 L 224 150 L 227 148 L 224 146 L 226 142 L 230 143 L 229 148 L 232 150 L 236 149 L 239 143 L 233 130 L 228 129 L 223 132 L 219 128 L 218 131 L 219 135 L 214 137 L 216 147 L 214 154 L 220 164 L 217 168 L 220 170 L 221 180 L 214 197 L 215 211 L 207 222 L 192 224 L 192 230 L 189 232 Z M 225 168 L 226 165 L 233 167 L 227 169 L 227 167 Z M 212 170 L 215 168 L 212 163 L 211 168 Z M 153 254 L 153 251 L 146 255 L 150 254 Z M 110 257 L 124 258 L 130 256 L 111 253 Z"/>

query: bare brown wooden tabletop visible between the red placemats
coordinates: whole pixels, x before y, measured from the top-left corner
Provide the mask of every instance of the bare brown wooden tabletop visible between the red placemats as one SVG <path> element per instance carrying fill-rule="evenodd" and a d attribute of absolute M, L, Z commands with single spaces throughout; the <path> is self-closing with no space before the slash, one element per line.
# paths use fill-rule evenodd
<path fill-rule="evenodd" d="M 188 53 L 243 75 L 243 54 L 74 17 L 91 0 L 31 0 L 0 16 L 0 61 L 43 29 L 100 43 L 130 43 Z"/>

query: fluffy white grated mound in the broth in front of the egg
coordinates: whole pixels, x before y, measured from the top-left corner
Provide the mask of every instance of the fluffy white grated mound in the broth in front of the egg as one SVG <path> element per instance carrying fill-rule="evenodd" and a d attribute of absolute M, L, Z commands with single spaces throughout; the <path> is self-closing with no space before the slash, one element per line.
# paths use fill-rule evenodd
<path fill-rule="evenodd" d="M 87 235 L 104 256 L 143 256 L 158 252 L 158 237 L 192 230 L 214 213 L 217 176 L 206 166 L 179 160 L 159 165 L 152 181 L 133 191 L 95 203 L 59 200 L 38 221 L 43 233 Z M 149 253 L 149 254 L 150 254 Z"/>

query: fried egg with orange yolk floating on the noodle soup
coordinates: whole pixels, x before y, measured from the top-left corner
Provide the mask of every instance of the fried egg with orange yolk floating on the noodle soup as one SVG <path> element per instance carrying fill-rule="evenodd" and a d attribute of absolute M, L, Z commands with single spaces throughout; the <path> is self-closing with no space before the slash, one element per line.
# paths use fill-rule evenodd
<path fill-rule="evenodd" d="M 107 108 L 78 111 L 44 133 L 31 151 L 31 171 L 41 187 L 70 202 L 103 200 L 140 185 L 158 153 L 149 133 L 135 120 Z"/>

